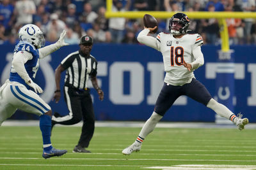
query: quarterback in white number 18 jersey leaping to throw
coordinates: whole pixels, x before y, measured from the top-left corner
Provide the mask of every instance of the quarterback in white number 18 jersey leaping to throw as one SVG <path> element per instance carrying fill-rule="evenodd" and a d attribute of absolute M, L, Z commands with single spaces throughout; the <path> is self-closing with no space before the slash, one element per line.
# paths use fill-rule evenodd
<path fill-rule="evenodd" d="M 145 27 L 138 35 L 140 43 L 162 53 L 166 76 L 154 112 L 143 125 L 134 143 L 122 151 L 124 155 L 140 151 L 144 139 L 154 130 L 157 122 L 175 100 L 182 95 L 204 104 L 221 117 L 234 122 L 239 130 L 243 130 L 244 125 L 248 124 L 248 118 L 241 118 L 241 114 L 236 117 L 226 106 L 212 99 L 205 86 L 195 79 L 193 71 L 204 64 L 204 55 L 201 52 L 204 41 L 199 34 L 188 34 L 188 27 L 188 16 L 184 13 L 176 13 L 169 22 L 170 32 L 161 32 L 154 38 L 148 36 L 148 33 L 154 32 L 157 27 Z"/>

